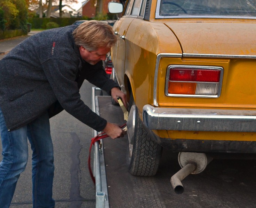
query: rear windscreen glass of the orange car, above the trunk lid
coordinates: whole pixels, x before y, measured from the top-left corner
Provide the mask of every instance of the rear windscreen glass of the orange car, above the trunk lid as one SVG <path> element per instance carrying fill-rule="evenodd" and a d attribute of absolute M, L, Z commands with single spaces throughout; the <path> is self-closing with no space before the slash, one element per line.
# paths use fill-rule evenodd
<path fill-rule="evenodd" d="M 256 0 L 159 0 L 159 16 L 256 17 Z"/>

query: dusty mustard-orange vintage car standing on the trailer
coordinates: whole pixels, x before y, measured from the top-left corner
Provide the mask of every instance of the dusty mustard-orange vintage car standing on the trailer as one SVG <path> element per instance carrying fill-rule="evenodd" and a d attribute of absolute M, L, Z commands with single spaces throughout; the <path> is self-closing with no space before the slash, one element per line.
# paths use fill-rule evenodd
<path fill-rule="evenodd" d="M 123 11 L 122 11 L 123 10 Z M 112 78 L 129 100 L 130 167 L 174 152 L 256 153 L 256 1 L 127 0 Z"/>

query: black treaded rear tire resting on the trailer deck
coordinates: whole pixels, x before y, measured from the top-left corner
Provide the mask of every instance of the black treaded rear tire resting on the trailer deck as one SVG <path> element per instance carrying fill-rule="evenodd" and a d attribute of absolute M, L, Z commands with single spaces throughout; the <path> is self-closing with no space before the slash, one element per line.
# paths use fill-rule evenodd
<path fill-rule="evenodd" d="M 133 145 L 129 145 L 129 171 L 136 176 L 153 176 L 158 171 L 162 147 L 150 138 L 139 119 L 137 108 L 135 111 Z"/>

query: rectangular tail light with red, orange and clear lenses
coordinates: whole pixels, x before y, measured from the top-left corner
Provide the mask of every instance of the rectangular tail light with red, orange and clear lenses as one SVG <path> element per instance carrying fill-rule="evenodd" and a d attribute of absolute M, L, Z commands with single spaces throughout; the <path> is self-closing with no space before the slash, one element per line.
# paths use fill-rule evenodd
<path fill-rule="evenodd" d="M 172 65 L 167 70 L 166 95 L 219 97 L 222 78 L 221 67 Z"/>

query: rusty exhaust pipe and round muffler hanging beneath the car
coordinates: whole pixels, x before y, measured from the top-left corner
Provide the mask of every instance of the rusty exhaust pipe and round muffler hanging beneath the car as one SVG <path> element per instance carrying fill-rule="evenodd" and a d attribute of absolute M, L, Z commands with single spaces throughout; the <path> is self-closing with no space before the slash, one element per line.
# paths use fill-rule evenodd
<path fill-rule="evenodd" d="M 205 153 L 180 152 L 178 162 L 182 168 L 171 177 L 171 185 L 175 193 L 182 194 L 184 187 L 181 181 L 189 174 L 198 174 L 204 171 L 212 160 L 213 158 L 208 157 Z"/>

